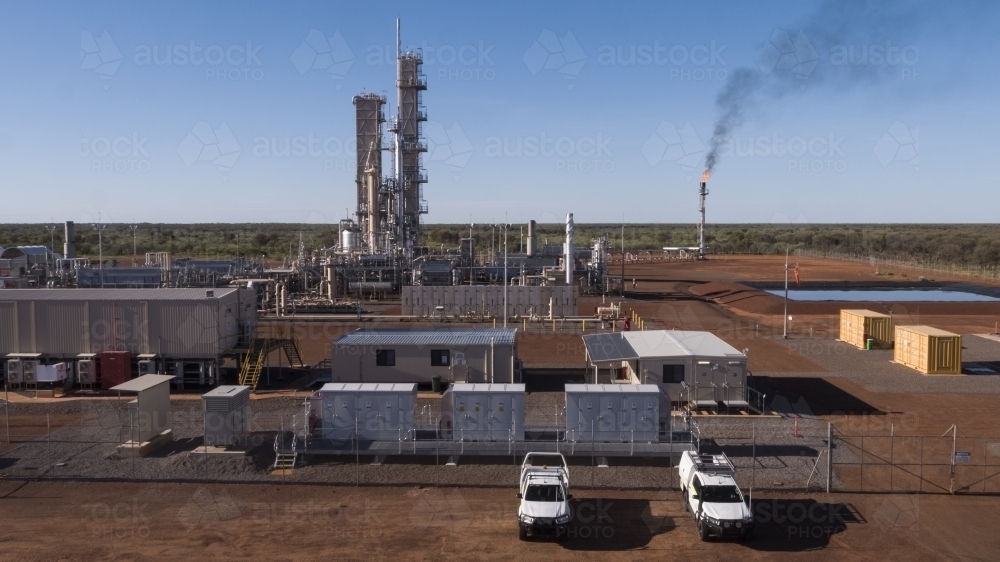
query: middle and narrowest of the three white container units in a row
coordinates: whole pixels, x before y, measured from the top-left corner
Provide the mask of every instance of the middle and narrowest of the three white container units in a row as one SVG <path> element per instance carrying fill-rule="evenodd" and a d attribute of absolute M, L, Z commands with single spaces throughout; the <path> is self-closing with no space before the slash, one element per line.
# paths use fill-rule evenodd
<path fill-rule="evenodd" d="M 441 396 L 441 427 L 455 441 L 524 441 L 524 385 L 449 386 Z"/>

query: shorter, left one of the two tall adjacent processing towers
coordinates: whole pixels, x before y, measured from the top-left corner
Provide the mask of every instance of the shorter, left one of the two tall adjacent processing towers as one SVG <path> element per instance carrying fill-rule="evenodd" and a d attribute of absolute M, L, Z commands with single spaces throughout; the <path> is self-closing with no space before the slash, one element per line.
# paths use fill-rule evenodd
<path fill-rule="evenodd" d="M 361 227 L 363 245 L 369 253 L 378 254 L 385 246 L 384 223 L 389 201 L 382 195 L 382 106 L 385 96 L 362 94 L 354 96 L 357 124 L 357 222 Z"/>

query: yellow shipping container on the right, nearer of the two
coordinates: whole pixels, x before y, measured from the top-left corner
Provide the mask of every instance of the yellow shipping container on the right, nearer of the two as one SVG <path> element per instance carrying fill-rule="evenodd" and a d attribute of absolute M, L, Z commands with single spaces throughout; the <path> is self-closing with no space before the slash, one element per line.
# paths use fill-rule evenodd
<path fill-rule="evenodd" d="M 962 336 L 930 326 L 896 326 L 892 360 L 925 375 L 961 375 Z"/>

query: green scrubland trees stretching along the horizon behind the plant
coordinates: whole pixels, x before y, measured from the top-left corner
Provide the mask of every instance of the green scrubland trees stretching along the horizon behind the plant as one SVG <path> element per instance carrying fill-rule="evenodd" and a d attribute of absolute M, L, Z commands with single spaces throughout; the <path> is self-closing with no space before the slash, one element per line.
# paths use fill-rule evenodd
<path fill-rule="evenodd" d="M 47 225 L 0 225 L 0 246 L 50 245 Z M 521 251 L 524 225 L 515 224 L 508 231 L 508 249 Z M 499 228 L 477 225 L 472 232 L 478 251 L 502 244 Z M 104 254 L 132 254 L 132 230 L 127 225 L 109 225 L 104 231 Z M 435 249 L 456 248 L 469 236 L 469 226 L 430 224 L 423 230 L 422 244 Z M 562 244 L 563 224 L 539 224 L 539 246 Z M 590 240 L 606 237 L 613 251 L 621 251 L 622 225 L 577 224 L 576 243 L 586 246 Z M 265 256 L 281 259 L 298 253 L 299 239 L 307 249 L 331 247 L 337 243 L 335 225 L 315 224 L 140 224 L 136 242 L 138 252 L 171 252 L 178 257 Z M 96 256 L 98 235 L 90 225 L 76 229 L 76 249 L 81 256 Z M 706 238 L 713 253 L 783 254 L 786 249 L 870 255 L 956 266 L 1000 265 L 1000 225 L 992 224 L 721 224 L 709 225 Z M 626 251 L 658 252 L 664 246 L 696 244 L 697 228 L 690 224 L 627 224 L 624 227 Z M 55 232 L 60 251 L 62 228 Z"/>

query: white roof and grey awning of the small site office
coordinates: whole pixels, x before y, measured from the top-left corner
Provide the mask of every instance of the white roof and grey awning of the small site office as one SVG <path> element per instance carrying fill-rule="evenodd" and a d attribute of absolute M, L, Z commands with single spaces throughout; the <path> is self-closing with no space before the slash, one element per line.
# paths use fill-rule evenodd
<path fill-rule="evenodd" d="M 592 363 L 660 357 L 731 357 L 746 355 L 711 332 L 646 330 L 583 336 Z"/>

